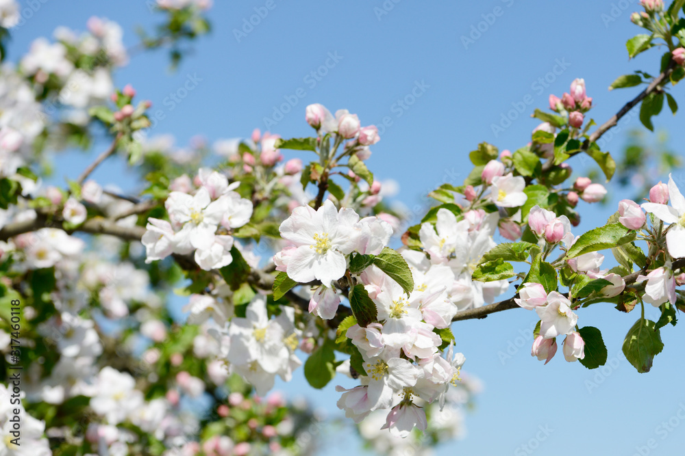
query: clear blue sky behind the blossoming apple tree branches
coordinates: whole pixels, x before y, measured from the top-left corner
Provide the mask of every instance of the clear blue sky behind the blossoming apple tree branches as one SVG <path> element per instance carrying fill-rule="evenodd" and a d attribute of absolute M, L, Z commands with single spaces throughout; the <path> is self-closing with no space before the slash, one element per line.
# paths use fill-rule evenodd
<path fill-rule="evenodd" d="M 373 147 L 369 166 L 379 178 L 399 181 L 399 198 L 411 206 L 425 204 L 421 194 L 444 181 L 459 183 L 470 170 L 468 152 L 479 142 L 512 150 L 525 144 L 537 124 L 527 116 L 534 107 L 547 107 L 549 93 L 560 96 L 569 90 L 574 78 L 585 78 L 588 94 L 595 99 L 591 115 L 601 123 L 638 92 L 637 88 L 608 92 L 617 76 L 637 69 L 658 72 L 658 53 L 629 62 L 625 52 L 625 41 L 640 33 L 629 19 L 630 12 L 638 10 L 636 0 L 395 1 L 275 0 L 275 9 L 238 42 L 233 30 L 240 29 L 243 19 L 249 20 L 253 8 L 263 7 L 266 0 L 215 0 L 212 35 L 194 44 L 195 54 L 177 72 L 167 71 L 166 53 L 150 53 L 134 57 L 117 73 L 116 83 L 119 87 L 132 83 L 140 96 L 164 109 L 166 118 L 153 133 L 173 133 L 179 144 L 187 144 L 198 133 L 213 141 L 247 137 L 255 127 L 264 130 L 264 118 L 273 116 L 284 97 L 292 100 L 298 89 L 306 95 L 271 127 L 274 133 L 310 134 L 304 122 L 304 108 L 310 103 L 323 103 L 332 111 L 347 108 L 358 113 L 362 124 L 379 124 L 388 117 L 393 123 Z M 394 8 L 379 16 L 375 8 L 383 8 L 384 3 Z M 612 5 L 616 5 L 613 10 Z M 155 21 L 144 1 L 49 0 L 15 33 L 10 59 L 28 49 L 36 36 L 50 36 L 57 25 L 84 29 L 92 14 L 121 23 L 129 45 L 136 42 L 136 25 L 151 27 Z M 488 19 L 490 24 L 484 22 Z M 482 31 L 465 46 L 461 37 L 469 36 L 472 27 Z M 338 55 L 337 62 L 329 59 L 329 53 Z M 320 81 L 308 77 L 327 59 L 332 68 Z M 561 74 L 554 75 L 559 62 L 566 68 L 557 66 Z M 181 87 L 187 75 L 202 81 L 171 110 L 164 98 Z M 539 87 L 540 78 L 547 78 L 548 88 Z M 416 94 L 423 93 L 407 109 L 399 107 L 397 100 L 411 94 L 416 81 L 423 84 Z M 683 89 L 673 93 L 685 106 Z M 533 105 L 525 106 L 525 112 L 495 137 L 491 125 L 526 96 L 534 100 Z M 627 126 L 639 125 L 634 114 Z M 682 114 L 673 118 L 665 112 L 655 121 L 669 130 L 671 145 L 679 153 L 685 139 L 682 122 Z M 613 135 L 606 148 L 620 152 L 625 131 L 624 127 Z M 85 161 L 82 155 L 62 159 L 59 180 L 65 174 L 77 176 Z M 571 165 L 583 167 L 578 159 Z M 115 168 L 105 172 L 103 167 L 95 177 L 105 184 L 130 187 L 133 180 L 125 176 L 125 167 Z M 623 197 L 612 196 L 609 207 L 590 209 L 576 232 L 603 224 Z M 586 211 L 586 206 L 581 209 Z M 658 318 L 656 310 L 647 311 L 651 319 Z M 482 379 L 485 390 L 477 398 L 475 412 L 466 418 L 466 440 L 438 448 L 437 454 L 527 454 L 515 452 L 535 438 L 539 425 L 553 429 L 540 443 L 536 451 L 540 455 L 633 455 L 639 454 L 636 446 L 650 443 L 652 448 L 643 448 L 643 454 L 682 453 L 685 422 L 673 418 L 671 425 L 677 425 L 665 433 L 666 428 L 658 426 L 685 404 L 683 328 L 664 328 L 664 352 L 656 357 L 651 373 L 638 374 L 620 353 L 623 337 L 638 315 L 621 314 L 609 304 L 597 304 L 579 315 L 581 326 L 601 328 L 610 360 L 615 358 L 616 367 L 606 368 L 604 374 L 566 363 L 561 353 L 543 366 L 530 357 L 531 340 L 502 363 L 498 353 L 506 352 L 510 343 L 515 347 L 519 331 L 535 322 L 532 312 L 510 310 L 453 325 L 457 347 L 467 358 L 466 368 Z M 586 382 L 595 381 L 595 375 L 601 384 L 588 391 Z M 295 381 L 283 388 L 307 394 L 316 405 L 337 412 L 333 385 L 312 393 L 299 371 Z M 685 407 L 680 414 L 685 416 Z M 343 450 L 349 453 L 346 446 L 335 454 Z"/>

